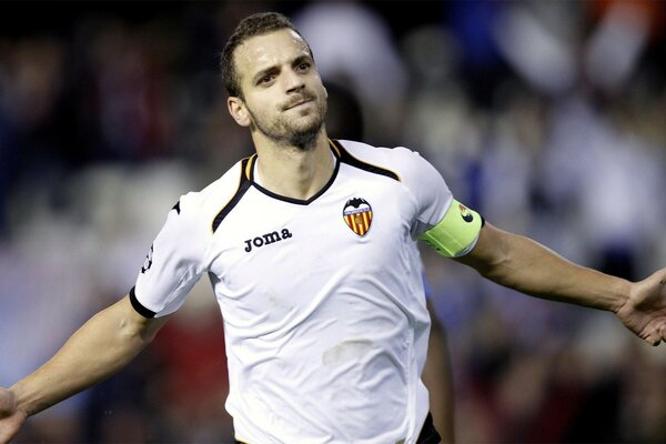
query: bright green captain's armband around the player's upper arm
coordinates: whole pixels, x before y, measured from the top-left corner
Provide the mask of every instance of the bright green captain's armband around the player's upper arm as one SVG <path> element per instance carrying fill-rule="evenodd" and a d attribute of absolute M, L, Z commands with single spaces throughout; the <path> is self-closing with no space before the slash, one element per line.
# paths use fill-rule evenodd
<path fill-rule="evenodd" d="M 444 258 L 458 258 L 474 248 L 483 222 L 477 212 L 454 199 L 442 221 L 421 239 Z"/>

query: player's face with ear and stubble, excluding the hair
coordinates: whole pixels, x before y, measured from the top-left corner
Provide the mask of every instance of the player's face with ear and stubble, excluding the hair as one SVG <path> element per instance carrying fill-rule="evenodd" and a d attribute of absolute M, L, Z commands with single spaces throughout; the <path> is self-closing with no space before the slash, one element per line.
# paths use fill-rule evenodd
<path fill-rule="evenodd" d="M 253 37 L 234 62 L 243 92 L 228 102 L 235 121 L 279 144 L 310 148 L 323 127 L 326 90 L 303 39 L 289 29 Z"/>

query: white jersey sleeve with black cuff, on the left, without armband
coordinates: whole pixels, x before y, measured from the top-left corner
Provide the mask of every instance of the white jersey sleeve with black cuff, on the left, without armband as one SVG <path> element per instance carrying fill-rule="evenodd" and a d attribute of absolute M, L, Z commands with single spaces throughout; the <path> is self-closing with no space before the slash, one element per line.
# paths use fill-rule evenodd
<path fill-rule="evenodd" d="M 205 230 L 196 222 L 196 193 L 181 198 L 167 216 L 130 291 L 145 317 L 175 312 L 204 271 Z"/>

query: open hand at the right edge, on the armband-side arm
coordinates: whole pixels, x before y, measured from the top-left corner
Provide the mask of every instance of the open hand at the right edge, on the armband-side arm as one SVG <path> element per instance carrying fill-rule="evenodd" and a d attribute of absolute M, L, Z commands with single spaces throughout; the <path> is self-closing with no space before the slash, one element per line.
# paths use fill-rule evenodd
<path fill-rule="evenodd" d="M 616 314 L 627 329 L 649 344 L 666 341 L 666 269 L 633 284 Z"/>

